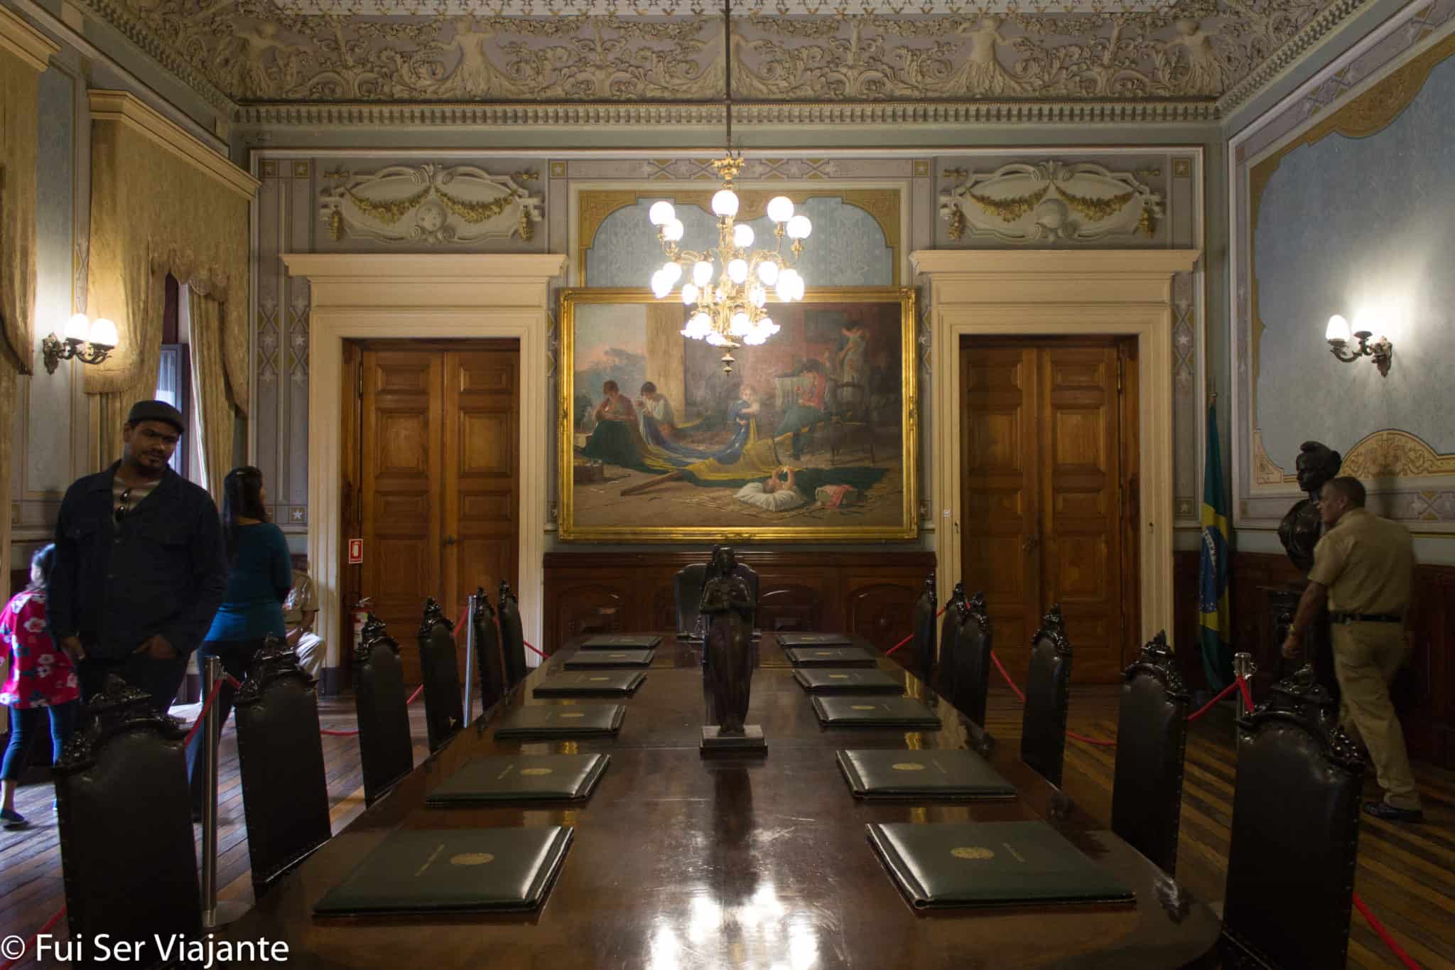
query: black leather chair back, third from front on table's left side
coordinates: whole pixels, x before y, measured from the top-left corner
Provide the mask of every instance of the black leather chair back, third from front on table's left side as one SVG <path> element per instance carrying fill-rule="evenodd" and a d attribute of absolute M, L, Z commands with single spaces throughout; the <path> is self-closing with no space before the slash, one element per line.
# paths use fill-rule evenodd
<path fill-rule="evenodd" d="M 364 622 L 359 646 L 354 649 L 354 705 L 359 718 L 364 803 L 372 804 L 415 769 L 399 644 L 374 614 Z"/>

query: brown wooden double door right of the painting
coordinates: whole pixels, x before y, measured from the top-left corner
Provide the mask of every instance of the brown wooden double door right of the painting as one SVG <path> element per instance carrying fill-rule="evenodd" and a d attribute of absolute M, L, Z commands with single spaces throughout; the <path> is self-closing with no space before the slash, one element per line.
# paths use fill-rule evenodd
<path fill-rule="evenodd" d="M 962 348 L 962 574 L 966 593 L 985 592 L 1014 676 L 1051 604 L 1078 682 L 1116 681 L 1136 646 L 1129 343 Z"/>

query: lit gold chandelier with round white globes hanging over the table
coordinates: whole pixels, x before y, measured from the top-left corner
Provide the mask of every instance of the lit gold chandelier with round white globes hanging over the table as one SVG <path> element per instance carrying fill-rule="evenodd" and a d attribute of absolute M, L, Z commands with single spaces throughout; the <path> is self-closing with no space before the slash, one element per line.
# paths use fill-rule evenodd
<path fill-rule="evenodd" d="M 725 348 L 723 374 L 732 374 L 735 364 L 732 352 L 736 348 L 744 343 L 762 343 L 778 332 L 778 324 L 765 308 L 770 288 L 784 302 L 803 298 L 803 278 L 793 266 L 803 253 L 803 240 L 813 231 L 813 224 L 806 215 L 794 214 L 793 201 L 786 195 L 768 201 L 774 249 L 752 249 L 752 227 L 736 221 L 741 202 L 733 191 L 733 179 L 742 172 L 742 154 L 732 151 L 730 16 L 732 7 L 725 4 L 728 154 L 713 161 L 713 169 L 723 180 L 723 188 L 711 201 L 713 215 L 717 217 L 717 249 L 703 252 L 679 249 L 678 243 L 685 228 L 677 218 L 672 204 L 663 199 L 653 202 L 647 209 L 647 218 L 656 227 L 656 237 L 666 254 L 662 268 L 652 273 L 652 292 L 662 300 L 681 281 L 682 302 L 697 307 L 688 317 L 682 336 Z M 784 237 L 792 240 L 787 252 L 783 249 Z"/>

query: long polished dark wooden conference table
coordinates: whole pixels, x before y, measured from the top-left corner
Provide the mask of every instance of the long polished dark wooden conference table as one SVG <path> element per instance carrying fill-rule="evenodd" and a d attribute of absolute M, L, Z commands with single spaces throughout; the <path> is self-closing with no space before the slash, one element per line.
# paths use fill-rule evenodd
<path fill-rule="evenodd" d="M 570 704 L 531 691 L 573 652 L 575 641 L 553 654 L 505 707 Z M 937 707 L 943 729 L 824 729 L 773 634 L 758 653 L 748 723 L 762 726 L 767 756 L 700 756 L 701 647 L 663 634 L 646 682 L 624 700 L 615 737 L 498 742 L 499 716 L 470 724 L 218 937 L 285 941 L 290 967 L 1151 970 L 1211 960 L 1219 921 L 1208 906 L 1075 806 L 1053 811 L 1055 790 L 1020 762 L 1018 745 L 988 755 L 1016 800 L 856 800 L 838 749 L 963 749 L 963 718 L 880 659 L 880 669 L 904 678 L 906 695 Z M 425 806 L 426 793 L 471 758 L 586 752 L 608 752 L 611 765 L 576 807 Z M 864 832 L 870 822 L 1029 819 L 1051 820 L 1136 893 L 1135 906 L 915 910 Z M 573 826 L 575 839 L 534 913 L 313 916 L 319 897 L 391 830 L 540 825 Z"/>

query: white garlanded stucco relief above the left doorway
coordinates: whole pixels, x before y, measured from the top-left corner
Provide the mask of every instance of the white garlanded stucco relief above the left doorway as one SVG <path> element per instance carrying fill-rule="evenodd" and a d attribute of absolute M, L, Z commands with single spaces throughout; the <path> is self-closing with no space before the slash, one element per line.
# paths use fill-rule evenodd
<path fill-rule="evenodd" d="M 378 172 L 323 173 L 319 217 L 333 240 L 362 236 L 383 243 L 477 243 L 530 240 L 541 221 L 541 196 L 521 182 L 534 172 L 490 175 L 485 169 L 435 163 L 396 164 Z"/>

